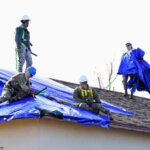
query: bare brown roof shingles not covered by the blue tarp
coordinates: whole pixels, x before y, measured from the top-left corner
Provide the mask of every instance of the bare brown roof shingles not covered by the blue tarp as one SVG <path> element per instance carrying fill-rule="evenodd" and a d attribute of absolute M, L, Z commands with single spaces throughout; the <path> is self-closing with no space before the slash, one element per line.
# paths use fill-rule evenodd
<path fill-rule="evenodd" d="M 53 80 L 73 89 L 78 85 L 76 83 Z M 129 99 L 124 97 L 121 92 L 93 88 L 97 91 L 101 100 L 123 107 L 135 114 L 135 116 L 132 116 L 113 113 L 114 120 L 110 122 L 110 127 L 150 133 L 150 100 L 148 98 L 134 96 L 134 99 Z"/>

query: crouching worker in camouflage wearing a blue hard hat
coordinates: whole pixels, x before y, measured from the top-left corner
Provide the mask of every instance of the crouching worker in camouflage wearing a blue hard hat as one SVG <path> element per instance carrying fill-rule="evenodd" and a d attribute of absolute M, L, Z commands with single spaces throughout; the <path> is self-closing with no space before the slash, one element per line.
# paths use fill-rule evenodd
<path fill-rule="evenodd" d="M 29 79 L 36 74 L 34 67 L 28 67 L 25 73 L 18 73 L 11 77 L 4 85 L 0 103 L 8 101 L 15 102 L 27 96 L 34 96 L 34 91 L 30 88 Z"/>

